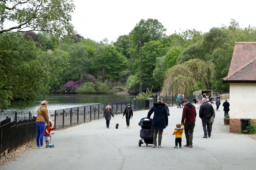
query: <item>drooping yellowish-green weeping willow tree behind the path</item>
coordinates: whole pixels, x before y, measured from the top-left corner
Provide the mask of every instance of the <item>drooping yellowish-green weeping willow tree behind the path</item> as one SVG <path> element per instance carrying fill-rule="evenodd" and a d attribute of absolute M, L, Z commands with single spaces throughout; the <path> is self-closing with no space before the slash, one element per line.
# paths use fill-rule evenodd
<path fill-rule="evenodd" d="M 213 89 L 215 86 L 215 68 L 210 61 L 188 60 L 171 67 L 165 75 L 162 95 L 191 95 L 202 88 Z"/>

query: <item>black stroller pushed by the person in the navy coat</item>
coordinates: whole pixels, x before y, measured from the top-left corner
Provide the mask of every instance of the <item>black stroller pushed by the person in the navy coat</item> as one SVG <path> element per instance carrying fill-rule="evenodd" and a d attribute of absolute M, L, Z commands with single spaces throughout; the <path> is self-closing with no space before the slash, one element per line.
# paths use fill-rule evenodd
<path fill-rule="evenodd" d="M 139 146 L 143 144 L 143 140 L 147 146 L 148 144 L 153 144 L 152 120 L 148 119 L 147 117 L 144 117 L 140 119 L 139 126 L 141 126 L 141 130 L 140 130 L 141 139 L 139 140 Z"/>

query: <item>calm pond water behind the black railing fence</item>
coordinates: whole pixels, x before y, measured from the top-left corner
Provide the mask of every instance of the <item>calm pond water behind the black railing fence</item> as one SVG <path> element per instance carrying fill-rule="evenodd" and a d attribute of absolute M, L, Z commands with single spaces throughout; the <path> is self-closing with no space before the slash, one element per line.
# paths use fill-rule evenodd
<path fill-rule="evenodd" d="M 43 100 L 48 101 L 48 110 L 65 109 L 83 106 L 87 104 L 106 103 L 132 100 L 131 95 L 82 95 L 82 94 L 49 94 L 46 97 L 38 97 L 26 107 L 21 107 L 18 101 L 12 101 L 8 110 L 37 110 Z"/>

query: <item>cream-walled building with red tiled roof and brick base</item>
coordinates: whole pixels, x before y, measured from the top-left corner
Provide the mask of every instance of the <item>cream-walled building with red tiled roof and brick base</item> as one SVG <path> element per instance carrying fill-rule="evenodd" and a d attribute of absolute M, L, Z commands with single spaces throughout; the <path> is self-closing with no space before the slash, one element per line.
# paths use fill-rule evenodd
<path fill-rule="evenodd" d="M 235 43 L 228 76 L 222 81 L 229 83 L 229 131 L 239 132 L 240 118 L 256 122 L 256 42 Z"/>

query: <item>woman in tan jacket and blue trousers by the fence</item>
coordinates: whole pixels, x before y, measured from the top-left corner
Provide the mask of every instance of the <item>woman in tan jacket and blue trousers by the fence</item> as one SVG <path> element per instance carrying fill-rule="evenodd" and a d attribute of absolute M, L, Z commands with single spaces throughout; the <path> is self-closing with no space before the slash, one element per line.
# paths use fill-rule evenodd
<path fill-rule="evenodd" d="M 43 144 L 44 140 L 44 129 L 45 122 L 47 122 L 46 126 L 49 125 L 49 117 L 48 117 L 48 102 L 44 100 L 41 103 L 41 107 L 37 109 L 37 117 L 36 117 L 36 148 L 45 148 Z M 39 145 L 40 139 L 40 145 Z"/>

